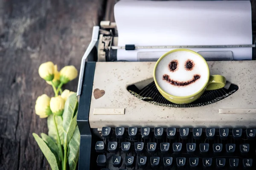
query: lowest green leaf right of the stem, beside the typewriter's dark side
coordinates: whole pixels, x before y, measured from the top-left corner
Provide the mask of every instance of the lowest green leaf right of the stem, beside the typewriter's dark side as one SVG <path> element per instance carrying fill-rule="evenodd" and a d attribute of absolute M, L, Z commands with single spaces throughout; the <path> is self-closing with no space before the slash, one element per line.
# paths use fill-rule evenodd
<path fill-rule="evenodd" d="M 76 170 L 76 164 L 79 158 L 79 146 L 80 146 L 80 132 L 78 126 L 76 126 L 76 130 L 71 138 L 68 147 L 68 164 L 70 166 L 70 170 Z"/>

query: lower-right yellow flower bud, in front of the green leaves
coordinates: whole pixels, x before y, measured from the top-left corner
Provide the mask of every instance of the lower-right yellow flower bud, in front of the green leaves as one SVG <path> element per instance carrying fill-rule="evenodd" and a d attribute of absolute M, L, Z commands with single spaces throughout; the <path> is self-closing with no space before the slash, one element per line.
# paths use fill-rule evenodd
<path fill-rule="evenodd" d="M 61 96 L 52 97 L 50 101 L 50 108 L 52 113 L 61 116 L 64 111 L 65 100 Z"/>

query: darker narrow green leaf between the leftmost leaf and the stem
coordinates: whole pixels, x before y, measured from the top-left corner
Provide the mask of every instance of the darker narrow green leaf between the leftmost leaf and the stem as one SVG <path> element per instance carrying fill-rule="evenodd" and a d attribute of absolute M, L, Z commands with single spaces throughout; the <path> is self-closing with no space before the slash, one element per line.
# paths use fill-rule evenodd
<path fill-rule="evenodd" d="M 61 156 L 60 156 L 60 152 L 58 150 L 58 146 L 55 144 L 55 142 L 52 140 L 52 138 L 50 138 L 45 133 L 41 133 L 41 138 L 44 140 L 44 142 L 50 148 L 52 153 L 55 155 L 58 167 L 59 167 L 59 169 L 61 169 L 61 162 L 60 162 Z"/>

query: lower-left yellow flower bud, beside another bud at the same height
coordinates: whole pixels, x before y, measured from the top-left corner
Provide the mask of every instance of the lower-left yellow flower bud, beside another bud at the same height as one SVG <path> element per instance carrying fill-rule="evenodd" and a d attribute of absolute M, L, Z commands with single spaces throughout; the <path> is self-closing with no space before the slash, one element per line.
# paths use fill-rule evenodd
<path fill-rule="evenodd" d="M 39 96 L 35 101 L 35 114 L 37 114 L 40 118 L 48 117 L 50 114 L 52 114 L 49 105 L 50 98 L 46 94 Z"/>

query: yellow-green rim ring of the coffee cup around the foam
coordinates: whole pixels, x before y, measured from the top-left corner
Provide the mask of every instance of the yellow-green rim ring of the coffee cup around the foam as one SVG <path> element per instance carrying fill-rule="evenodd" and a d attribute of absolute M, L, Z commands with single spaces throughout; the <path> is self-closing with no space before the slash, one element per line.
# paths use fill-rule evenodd
<path fill-rule="evenodd" d="M 171 53 L 177 52 L 177 51 L 187 51 L 187 52 L 194 53 L 194 54 L 198 55 L 199 57 L 201 57 L 201 58 L 204 60 L 205 64 L 207 65 L 207 71 L 208 71 L 207 80 L 208 80 L 208 81 L 204 83 L 204 86 L 203 86 L 198 92 L 196 92 L 196 93 L 194 93 L 194 94 L 191 94 L 191 95 L 189 95 L 189 96 L 173 96 L 173 95 L 171 95 L 171 94 L 169 94 L 169 93 L 166 93 L 166 91 L 164 91 L 164 90 L 160 87 L 160 85 L 158 85 L 157 80 L 156 80 L 156 68 L 157 68 L 157 65 L 159 64 L 159 62 L 160 62 L 164 57 L 166 57 L 168 54 L 171 54 Z M 209 65 L 208 65 L 208 63 L 206 62 L 206 60 L 204 59 L 204 57 L 202 57 L 200 54 L 198 54 L 197 52 L 195 52 L 195 51 L 193 51 L 193 50 L 189 50 L 189 49 L 186 49 L 186 48 L 179 48 L 179 49 L 174 49 L 174 50 L 171 50 L 171 51 L 166 52 L 165 54 L 163 54 L 163 55 L 157 60 L 155 66 L 154 66 L 153 77 L 154 77 L 154 82 L 155 82 L 157 88 L 158 88 L 160 91 L 162 91 L 162 93 L 164 93 L 165 95 L 167 95 L 167 96 L 169 96 L 169 97 L 172 97 L 172 98 L 176 98 L 176 99 L 186 99 L 186 98 L 189 98 L 189 97 L 196 96 L 197 94 L 201 93 L 201 92 L 204 90 L 204 88 L 206 88 L 206 86 L 207 86 L 208 83 L 209 83 L 210 70 L 209 70 Z"/>

